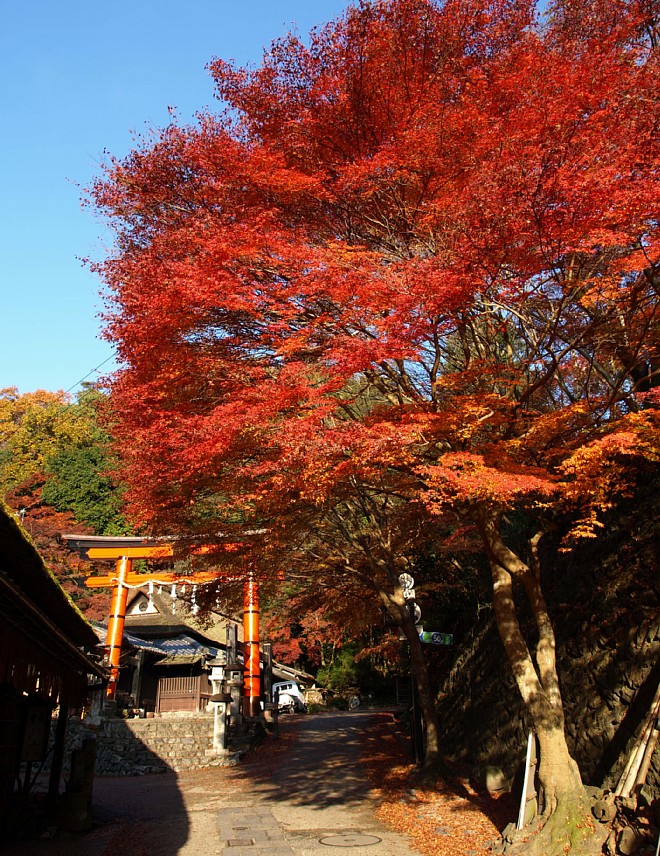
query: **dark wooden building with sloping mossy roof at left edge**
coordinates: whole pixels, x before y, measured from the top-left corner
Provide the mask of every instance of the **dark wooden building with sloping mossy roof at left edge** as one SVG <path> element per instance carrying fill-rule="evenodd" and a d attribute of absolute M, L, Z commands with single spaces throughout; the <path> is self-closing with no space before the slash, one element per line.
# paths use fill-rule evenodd
<path fill-rule="evenodd" d="M 0 504 L 0 826 L 48 751 L 54 801 L 68 712 L 85 705 L 90 680 L 100 685 L 107 679 L 101 658 L 94 629 Z"/>

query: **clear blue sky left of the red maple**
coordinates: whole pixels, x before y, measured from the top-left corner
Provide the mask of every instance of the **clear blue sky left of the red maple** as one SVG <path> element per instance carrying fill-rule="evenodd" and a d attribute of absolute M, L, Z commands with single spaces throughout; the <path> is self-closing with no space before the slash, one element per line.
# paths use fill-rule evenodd
<path fill-rule="evenodd" d="M 339 15 L 348 0 L 23 0 L 0 34 L 0 389 L 69 390 L 112 369 L 100 283 L 82 265 L 110 238 L 80 205 L 104 150 L 213 105 L 212 57 L 264 47 Z M 216 102 L 217 103 L 217 102 Z M 102 365 L 103 364 L 103 365 Z"/>

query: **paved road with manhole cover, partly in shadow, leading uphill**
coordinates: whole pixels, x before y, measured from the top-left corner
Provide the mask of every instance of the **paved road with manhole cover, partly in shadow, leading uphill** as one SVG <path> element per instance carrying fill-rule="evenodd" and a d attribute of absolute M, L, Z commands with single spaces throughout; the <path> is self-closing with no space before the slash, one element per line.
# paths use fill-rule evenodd
<path fill-rule="evenodd" d="M 11 856 L 406 856 L 405 836 L 374 818 L 358 761 L 368 713 L 283 717 L 286 752 L 180 775 L 100 778 L 103 820 L 85 836 L 3 850 Z M 367 837 L 368 836 L 368 837 Z M 368 843 L 370 842 L 370 843 Z M 1 848 L 0 848 L 1 849 Z"/>

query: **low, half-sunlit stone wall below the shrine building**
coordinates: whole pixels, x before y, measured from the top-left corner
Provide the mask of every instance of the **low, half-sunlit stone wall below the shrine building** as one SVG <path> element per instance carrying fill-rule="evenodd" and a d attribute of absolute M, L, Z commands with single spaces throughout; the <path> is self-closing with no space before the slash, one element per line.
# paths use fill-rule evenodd
<path fill-rule="evenodd" d="M 97 776 L 135 776 L 220 766 L 235 763 L 244 751 L 235 739 L 226 753 L 217 755 L 213 751 L 213 716 L 208 714 L 107 719 L 95 726 L 86 720 L 70 719 L 65 764 L 72 750 L 86 738 L 96 740 Z"/>

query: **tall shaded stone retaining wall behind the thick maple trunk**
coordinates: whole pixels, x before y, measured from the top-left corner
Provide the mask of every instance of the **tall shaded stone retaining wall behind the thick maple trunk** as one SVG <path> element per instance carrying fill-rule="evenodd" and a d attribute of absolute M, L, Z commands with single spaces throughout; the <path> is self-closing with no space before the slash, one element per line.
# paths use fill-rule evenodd
<path fill-rule="evenodd" d="M 652 513 L 637 514 L 567 559 L 553 561 L 557 553 L 551 551 L 545 557 L 543 586 L 557 636 L 569 748 L 585 783 L 599 787 L 618 781 L 660 680 L 653 520 Z M 523 602 L 524 594 L 517 599 Z M 529 726 L 492 610 L 475 616 L 456 655 L 438 700 L 444 752 L 474 774 L 493 765 L 512 779 Z M 660 749 L 647 790 L 660 794 Z"/>

